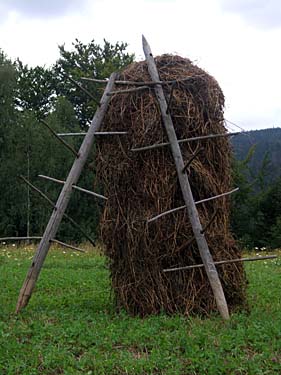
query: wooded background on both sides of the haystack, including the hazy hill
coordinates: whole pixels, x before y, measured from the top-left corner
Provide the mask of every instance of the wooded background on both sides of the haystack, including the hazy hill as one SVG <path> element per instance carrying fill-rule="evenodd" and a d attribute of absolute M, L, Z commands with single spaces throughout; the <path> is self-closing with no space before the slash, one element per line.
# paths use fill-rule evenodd
<path fill-rule="evenodd" d="M 71 50 L 59 47 L 60 58 L 51 66 L 29 67 L 12 61 L 0 50 L 0 234 L 42 235 L 52 207 L 23 181 L 24 176 L 53 201 L 60 185 L 39 174 L 65 180 L 73 156 L 58 143 L 44 123 L 56 132 L 85 131 L 102 89 L 83 81 L 91 92 L 78 91 L 73 80 L 82 77 L 108 78 L 134 61 L 126 43 L 103 45 L 75 40 Z M 74 149 L 80 137 L 67 138 Z M 281 129 L 252 131 L 233 137 L 233 186 L 231 226 L 242 246 L 252 249 L 281 246 Z M 91 190 L 95 184 L 95 149 L 79 185 Z M 95 191 L 102 187 L 95 184 Z M 102 205 L 93 197 L 75 192 L 68 208 L 93 238 L 98 238 Z M 58 238 L 79 243 L 84 237 L 63 221 Z"/>

